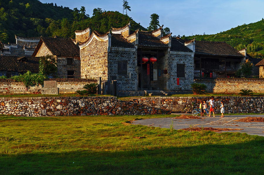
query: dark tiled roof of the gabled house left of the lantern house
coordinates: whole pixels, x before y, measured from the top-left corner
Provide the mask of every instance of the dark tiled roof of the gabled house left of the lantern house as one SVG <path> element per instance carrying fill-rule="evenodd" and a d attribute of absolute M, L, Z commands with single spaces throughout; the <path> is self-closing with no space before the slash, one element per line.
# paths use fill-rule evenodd
<path fill-rule="evenodd" d="M 48 47 L 50 52 L 56 56 L 80 56 L 80 49 L 70 38 L 48 38 L 42 37 L 32 56 L 35 56 L 42 44 Z"/>

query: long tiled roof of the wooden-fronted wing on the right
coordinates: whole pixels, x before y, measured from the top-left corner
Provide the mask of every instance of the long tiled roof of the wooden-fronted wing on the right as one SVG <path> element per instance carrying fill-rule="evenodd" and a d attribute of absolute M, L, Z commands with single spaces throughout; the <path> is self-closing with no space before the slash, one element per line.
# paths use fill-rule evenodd
<path fill-rule="evenodd" d="M 238 56 L 243 57 L 235 48 L 224 42 L 195 41 L 195 53 L 214 56 Z"/>

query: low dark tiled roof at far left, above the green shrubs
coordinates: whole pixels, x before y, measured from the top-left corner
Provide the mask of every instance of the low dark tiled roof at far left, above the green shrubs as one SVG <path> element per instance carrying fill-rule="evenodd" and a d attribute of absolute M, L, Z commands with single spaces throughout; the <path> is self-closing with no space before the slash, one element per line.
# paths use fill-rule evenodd
<path fill-rule="evenodd" d="M 24 57 L 26 62 L 19 61 L 18 56 L 0 56 L 0 70 L 18 71 L 18 72 L 31 72 L 39 71 L 40 57 Z"/>

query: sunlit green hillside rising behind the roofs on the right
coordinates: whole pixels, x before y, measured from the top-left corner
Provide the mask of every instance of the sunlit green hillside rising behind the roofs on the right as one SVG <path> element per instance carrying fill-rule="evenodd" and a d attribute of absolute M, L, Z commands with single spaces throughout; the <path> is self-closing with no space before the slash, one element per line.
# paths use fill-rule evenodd
<path fill-rule="evenodd" d="M 217 34 L 193 35 L 182 39 L 193 39 L 198 41 L 226 41 L 237 50 L 247 47 L 247 53 L 255 58 L 264 57 L 264 20 L 243 24 L 230 30 L 219 32 Z"/>

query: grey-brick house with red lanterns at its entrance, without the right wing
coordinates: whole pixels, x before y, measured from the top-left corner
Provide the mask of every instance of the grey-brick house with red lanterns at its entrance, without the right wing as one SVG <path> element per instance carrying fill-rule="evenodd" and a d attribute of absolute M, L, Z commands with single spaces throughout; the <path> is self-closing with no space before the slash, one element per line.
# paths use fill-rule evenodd
<path fill-rule="evenodd" d="M 117 80 L 119 91 L 190 90 L 193 50 L 171 34 L 163 37 L 162 27 L 148 32 L 130 28 L 128 23 L 107 33 L 90 32 L 89 28 L 77 31 L 83 32 L 75 41 L 80 43 L 81 77 L 102 77 L 108 86 L 110 80 Z M 143 63 L 143 56 L 157 61 Z"/>

